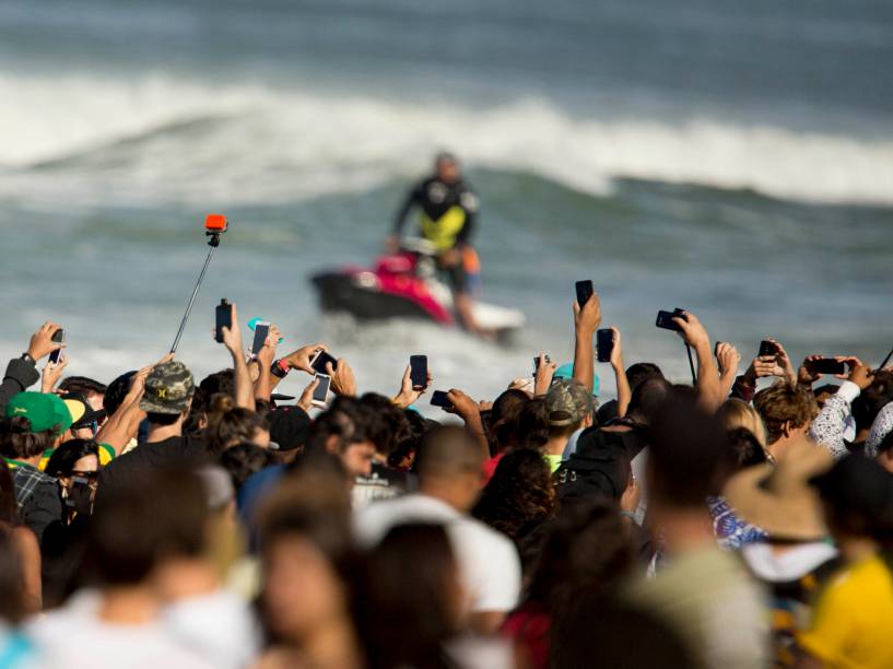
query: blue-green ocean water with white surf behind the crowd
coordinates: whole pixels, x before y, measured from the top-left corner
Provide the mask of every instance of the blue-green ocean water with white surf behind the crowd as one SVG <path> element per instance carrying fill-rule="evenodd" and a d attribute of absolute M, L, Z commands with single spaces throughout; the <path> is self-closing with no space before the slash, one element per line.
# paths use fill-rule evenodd
<path fill-rule="evenodd" d="M 880 0 L 7 0 L 0 349 L 51 317 L 72 372 L 157 357 L 222 210 L 233 231 L 181 348 L 199 373 L 226 362 L 208 328 L 227 296 L 287 343 L 330 340 L 365 387 L 396 389 L 425 352 L 438 386 L 492 395 L 531 352 L 569 355 L 581 278 L 627 360 L 679 378 L 659 308 L 745 357 L 775 336 L 877 361 L 891 62 Z M 306 282 L 368 262 L 442 148 L 481 196 L 487 298 L 528 316 L 513 348 L 324 321 Z"/>

